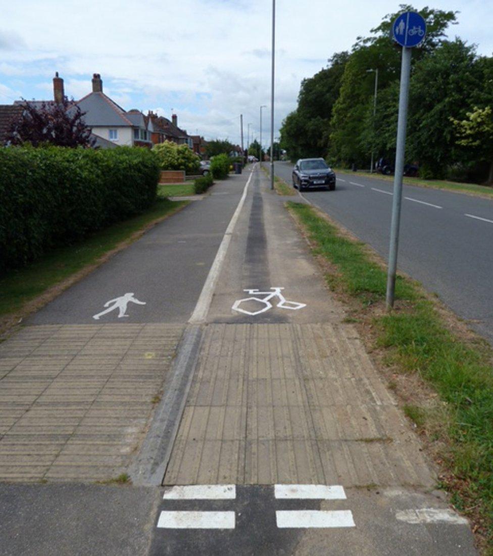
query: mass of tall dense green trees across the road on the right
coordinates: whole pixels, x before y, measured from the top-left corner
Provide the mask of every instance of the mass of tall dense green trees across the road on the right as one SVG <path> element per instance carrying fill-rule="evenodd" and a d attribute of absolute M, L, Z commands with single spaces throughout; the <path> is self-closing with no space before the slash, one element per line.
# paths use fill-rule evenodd
<path fill-rule="evenodd" d="M 417 11 L 401 4 L 398 13 L 409 9 Z M 490 173 L 491 180 L 493 58 L 477 56 L 460 38 L 447 39 L 456 12 L 419 12 L 427 36 L 412 52 L 406 161 L 419 163 L 424 177 L 472 176 L 481 167 L 483 175 L 476 177 L 484 181 Z M 370 37 L 357 37 L 350 53 L 334 54 L 326 68 L 303 80 L 298 106 L 281 128 L 281 146 L 292 160 L 325 156 L 331 163 L 369 167 L 372 152 L 375 160 L 395 156 L 401 48 L 389 36 L 398 13 L 387 14 Z"/>

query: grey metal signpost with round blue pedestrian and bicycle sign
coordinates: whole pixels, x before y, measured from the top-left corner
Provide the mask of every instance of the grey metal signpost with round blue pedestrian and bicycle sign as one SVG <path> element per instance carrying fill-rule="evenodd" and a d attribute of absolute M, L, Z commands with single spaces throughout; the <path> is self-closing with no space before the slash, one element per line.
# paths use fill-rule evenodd
<path fill-rule="evenodd" d="M 390 225 L 389 269 L 387 271 L 387 311 L 394 306 L 395 296 L 397 251 L 399 249 L 399 228 L 401 221 L 402 176 L 404 175 L 404 156 L 406 149 L 407 101 L 409 97 L 409 76 L 411 72 L 411 48 L 417 46 L 424 40 L 426 36 L 426 22 L 419 13 L 401 13 L 394 21 L 392 35 L 394 40 L 402 46 L 402 63 L 399 119 L 397 120 L 394 199 L 392 201 L 392 221 Z"/>

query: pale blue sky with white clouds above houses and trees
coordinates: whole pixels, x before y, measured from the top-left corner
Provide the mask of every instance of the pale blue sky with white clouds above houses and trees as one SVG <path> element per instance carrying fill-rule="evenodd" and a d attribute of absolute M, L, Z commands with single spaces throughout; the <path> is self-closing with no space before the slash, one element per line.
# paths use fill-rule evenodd
<path fill-rule="evenodd" d="M 493 53 L 491 4 L 437 0 L 459 24 L 449 38 Z M 420 9 L 421 4 L 414 4 Z M 0 104 L 51 100 L 58 71 L 65 94 L 91 91 L 93 73 L 125 110 L 153 110 L 191 135 L 240 143 L 270 136 L 271 0 L 0 0 Z M 335 52 L 368 36 L 399 3 L 386 0 L 276 0 L 275 136 L 296 108 L 303 78 Z M 250 124 L 250 126 L 248 126 Z"/>

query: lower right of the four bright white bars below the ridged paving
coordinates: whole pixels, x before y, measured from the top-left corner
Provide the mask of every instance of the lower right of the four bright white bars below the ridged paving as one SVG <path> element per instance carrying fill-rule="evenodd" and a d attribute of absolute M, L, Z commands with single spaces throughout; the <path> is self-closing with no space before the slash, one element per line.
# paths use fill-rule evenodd
<path fill-rule="evenodd" d="M 351 510 L 277 510 L 280 529 L 355 527 Z"/>

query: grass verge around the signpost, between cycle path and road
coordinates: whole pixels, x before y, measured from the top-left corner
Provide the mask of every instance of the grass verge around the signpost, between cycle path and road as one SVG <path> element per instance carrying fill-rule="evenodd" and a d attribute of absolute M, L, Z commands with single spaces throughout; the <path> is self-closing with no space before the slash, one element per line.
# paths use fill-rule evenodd
<path fill-rule="evenodd" d="M 288 210 L 326 262 L 332 290 L 350 298 L 366 341 L 400 384 L 424 383 L 429 395 L 401 396 L 404 411 L 426 439 L 441 469 L 441 486 L 474 524 L 484 554 L 493 554 L 492 351 L 447 315 L 416 282 L 400 276 L 396 306 L 385 307 L 386 271 L 361 242 L 352 240 L 313 207 Z M 397 394 L 405 386 L 394 383 Z M 416 403 L 417 400 L 417 403 Z"/>

